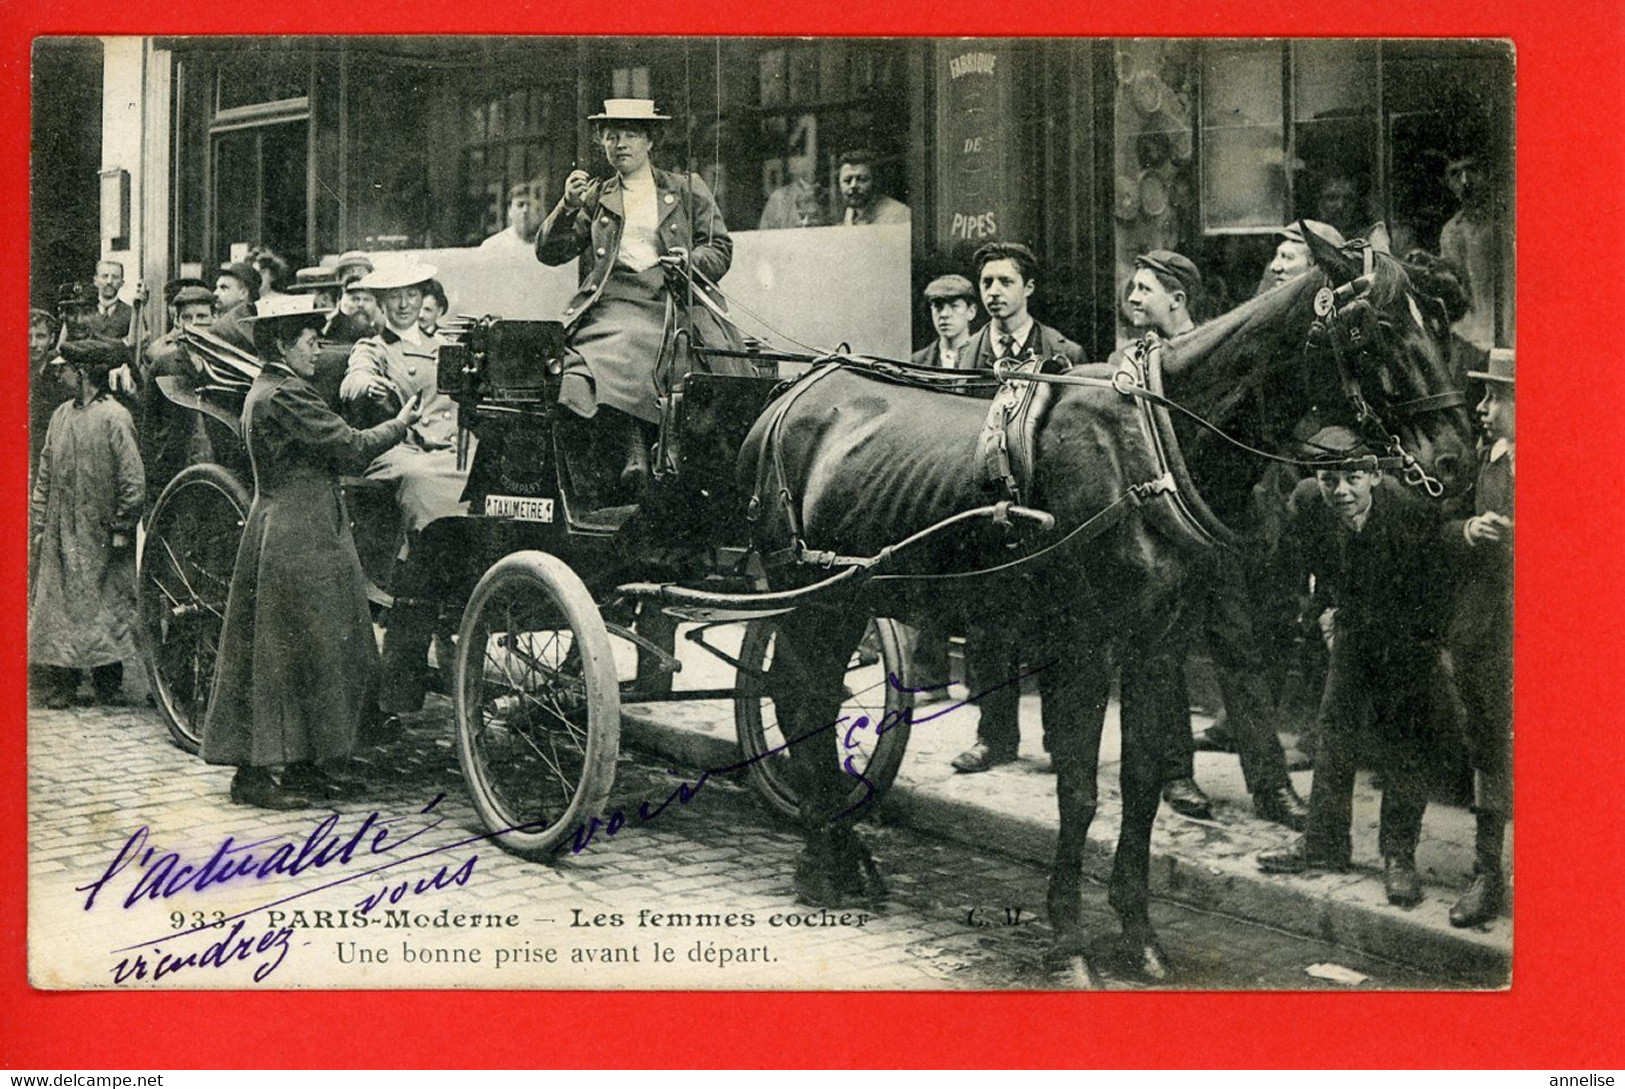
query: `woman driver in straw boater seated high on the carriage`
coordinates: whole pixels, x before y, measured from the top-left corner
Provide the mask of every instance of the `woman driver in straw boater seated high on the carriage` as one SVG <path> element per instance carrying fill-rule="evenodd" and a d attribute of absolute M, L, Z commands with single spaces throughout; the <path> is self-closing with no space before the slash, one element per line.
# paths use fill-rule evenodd
<path fill-rule="evenodd" d="M 728 271 L 733 239 L 699 176 L 650 166 L 655 133 L 670 120 L 653 101 L 609 99 L 588 120 L 598 124 L 614 174 L 595 180 L 574 171 L 566 179 L 536 236 L 536 257 L 546 265 L 582 258 L 580 289 L 564 310 L 570 354 L 559 401 L 596 419 L 596 442 L 619 440 L 609 449 L 624 452 L 621 484 L 635 492 L 648 475 L 650 424 L 660 423 L 655 379 L 673 366 L 678 332 L 691 328 L 704 345 L 731 343 L 717 315 L 722 294 L 705 284 Z"/>

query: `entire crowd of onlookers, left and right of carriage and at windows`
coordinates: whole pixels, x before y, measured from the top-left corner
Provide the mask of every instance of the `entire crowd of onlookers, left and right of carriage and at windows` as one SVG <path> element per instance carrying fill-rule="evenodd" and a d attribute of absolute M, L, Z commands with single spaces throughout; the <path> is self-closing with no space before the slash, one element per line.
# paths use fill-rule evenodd
<path fill-rule="evenodd" d="M 827 221 L 822 203 L 796 189 L 801 184 L 791 179 L 774 193 L 764 226 L 803 226 L 814 216 Z M 866 156 L 842 161 L 837 221 L 907 221 L 907 206 L 874 190 Z M 1495 322 L 1487 310 L 1497 301 L 1484 283 L 1492 278 L 1487 270 L 1495 224 L 1485 180 L 1471 156 L 1451 164 L 1451 187 L 1461 210 L 1445 226 L 1441 254 L 1417 254 L 1412 260 L 1450 286 L 1443 306 L 1458 335 L 1490 348 L 1485 336 Z M 533 245 L 538 224 L 525 193 L 515 193 L 509 211 L 507 231 L 492 242 L 512 234 L 518 244 Z M 772 216 L 783 223 L 769 223 Z M 1328 224 L 1282 228 L 1261 271 L 1259 293 L 1310 271 L 1315 258 L 1305 229 L 1344 245 Z M 1032 314 L 1040 270 L 1029 249 L 1012 242 L 985 245 L 967 271 L 973 278 L 946 275 L 926 286 L 936 338 L 915 354 L 915 364 L 975 371 L 1001 359 L 1084 361 L 1072 340 Z M 213 281 L 169 281 L 161 297 L 167 332 L 146 336 L 154 322 L 145 289 L 136 288 L 132 302 L 122 301 L 125 271 L 104 260 L 91 286 L 65 288 L 54 310 L 31 312 L 29 658 L 46 705 L 70 705 L 84 673 L 91 699 L 120 697 L 122 663 L 135 657 L 136 525 L 164 484 L 185 465 L 208 460 L 218 440 L 203 414 L 177 408 L 159 392 L 161 379 L 185 375 L 197 366 L 180 338 L 206 335 L 228 349 L 263 356 L 265 340 L 257 341 L 254 332 L 257 319 L 320 314 L 320 341 L 328 349 L 336 346 L 344 362 L 343 387 L 332 395 L 358 400 L 385 385 L 384 375 L 393 369 L 418 375 L 413 346 L 432 346 L 448 310 L 445 291 L 432 276 L 427 267 L 384 275 L 359 252 L 294 271 L 283 257 L 258 250 L 221 267 Z M 309 302 L 278 306 L 291 296 L 309 296 Z M 1206 317 L 1201 270 L 1172 250 L 1139 255 L 1121 301 L 1129 327 L 1165 338 L 1178 338 Z M 353 351 L 361 341 L 375 345 Z M 1186 723 L 1190 744 L 1167 769 L 1164 792 L 1176 811 L 1211 818 L 1191 754 L 1199 748 L 1233 751 L 1256 813 L 1303 832 L 1290 848 L 1261 857 L 1259 865 L 1292 873 L 1344 868 L 1355 764 L 1370 759 L 1383 785 L 1388 896 L 1409 905 L 1420 899 L 1414 853 L 1422 813 L 1430 793 L 1436 793 L 1432 772 L 1440 753 L 1464 738 L 1476 772 L 1479 878 L 1453 913 L 1461 925 L 1493 917 L 1505 891 L 1502 840 L 1511 813 L 1513 353 L 1492 348 L 1471 379 L 1484 390 L 1477 403 L 1484 442 L 1477 486 L 1459 510 L 1417 502 L 1376 468 L 1358 466 L 1375 452 L 1342 427 L 1310 437 L 1316 450 L 1344 457 L 1342 468 L 1305 479 L 1277 473 L 1263 489 L 1263 523 L 1269 528 L 1202 572 L 1190 601 L 1198 618 L 1188 626 L 1191 645 L 1168 650 L 1172 663 L 1181 663 L 1188 650 L 1206 650 L 1224 709 L 1219 723 L 1201 736 L 1193 736 Z M 432 366 L 416 379 L 401 377 L 401 384 L 418 390 L 419 401 L 432 397 Z M 444 460 L 453 445 L 445 427 L 455 427 L 450 410 L 434 406 L 421 423 L 413 414 L 408 442 L 400 449 Z M 375 465 L 392 457 L 380 455 Z M 1295 637 L 1302 629 L 1294 626 L 1294 614 L 1313 634 L 1310 640 Z M 962 634 L 972 689 L 978 673 L 1014 673 L 1019 645 L 993 629 Z M 913 657 L 921 686 L 946 684 L 946 632 L 920 632 Z M 416 644 L 410 650 L 416 666 L 422 653 Z M 1316 714 L 1306 717 L 1290 748 L 1282 743 L 1279 714 L 1289 675 L 1311 678 L 1311 691 L 1320 696 Z M 980 704 L 977 740 L 954 759 L 965 774 L 985 772 L 1017 754 L 1019 692 L 1008 684 L 986 688 L 996 694 Z M 421 705 L 421 692 L 416 702 Z M 1289 772 L 1310 766 L 1315 787 L 1305 801 Z"/>

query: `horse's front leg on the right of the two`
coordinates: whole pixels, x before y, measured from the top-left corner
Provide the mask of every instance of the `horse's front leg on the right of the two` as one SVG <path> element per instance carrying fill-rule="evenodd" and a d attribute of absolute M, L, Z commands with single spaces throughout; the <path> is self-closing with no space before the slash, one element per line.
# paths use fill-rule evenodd
<path fill-rule="evenodd" d="M 1160 982 L 1168 964 L 1150 925 L 1150 829 L 1167 779 L 1167 753 L 1178 741 L 1173 731 L 1186 728 L 1186 718 L 1178 707 L 1185 686 L 1172 673 L 1183 663 L 1159 645 L 1141 639 L 1123 650 L 1123 827 L 1107 899 L 1123 923 L 1129 970 Z"/>

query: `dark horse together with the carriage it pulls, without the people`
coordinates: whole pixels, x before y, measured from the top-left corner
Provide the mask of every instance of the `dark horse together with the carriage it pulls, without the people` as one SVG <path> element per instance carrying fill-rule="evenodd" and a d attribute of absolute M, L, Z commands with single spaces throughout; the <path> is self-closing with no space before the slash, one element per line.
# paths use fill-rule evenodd
<path fill-rule="evenodd" d="M 1202 554 L 1235 540 L 1227 518 L 1253 502 L 1269 460 L 1386 468 L 1438 499 L 1471 449 L 1450 322 L 1427 270 L 1391 257 L 1376 229 L 1341 247 L 1303 231 L 1315 270 L 1105 364 L 1053 372 L 1032 361 L 967 382 L 887 361 L 713 351 L 730 372 L 697 366 L 668 388 L 656 484 L 624 509 L 572 505 L 578 492 L 551 426 L 562 328 L 470 323 L 442 349 L 439 380 L 479 434 L 471 515 L 429 525 L 413 562 L 396 567 L 382 561 L 398 538 L 359 515 L 364 488 L 346 491 L 380 605 L 410 597 L 462 613 L 440 662 L 450 660 L 458 757 L 491 834 L 546 857 L 587 826 L 608 796 L 622 702 L 731 697 L 736 770 L 801 824 L 796 896 L 881 899 L 884 879 L 853 821 L 895 775 L 913 686 L 897 624 L 873 618 L 1003 613 L 1055 666 L 1038 676 L 1060 808 L 1053 964 L 1071 985 L 1100 983 L 1082 874 L 1116 670 L 1123 819 L 1108 902 L 1123 962 L 1167 978 L 1149 868 L 1159 754 L 1185 728 L 1167 714 L 1165 653 L 1178 642 L 1183 585 Z M 796 372 L 806 377 L 786 385 Z M 231 382 L 216 377 L 205 366 L 198 388 L 176 395 L 229 419 Z M 991 410 L 941 397 L 967 385 L 990 393 Z M 1381 455 L 1279 452 L 1295 449 L 1295 426 L 1328 416 Z M 1009 483 L 996 502 L 990 481 Z M 192 466 L 148 528 L 146 658 L 187 746 L 245 510 L 240 479 Z M 707 632 L 734 621 L 748 623 L 739 652 L 720 652 L 734 688 L 674 689 L 673 626 L 691 624 L 687 637 L 715 653 Z M 858 650 L 866 624 L 879 634 L 879 668 Z M 613 642 L 632 649 L 635 666 L 619 668 Z M 837 741 L 832 727 L 860 717 L 886 728 Z"/>

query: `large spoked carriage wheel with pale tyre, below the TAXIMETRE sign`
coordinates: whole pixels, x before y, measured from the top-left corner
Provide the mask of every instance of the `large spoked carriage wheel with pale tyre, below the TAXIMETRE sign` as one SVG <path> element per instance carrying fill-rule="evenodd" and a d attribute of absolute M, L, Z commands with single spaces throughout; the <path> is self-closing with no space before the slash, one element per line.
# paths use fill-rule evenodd
<path fill-rule="evenodd" d="M 457 639 L 457 759 L 486 829 L 541 858 L 603 813 L 621 689 L 598 606 L 570 567 L 514 553 L 474 587 Z"/>

